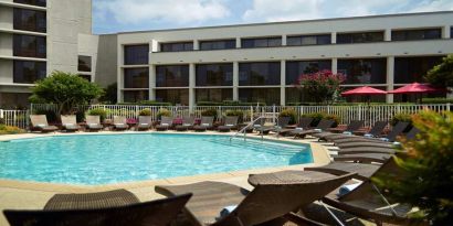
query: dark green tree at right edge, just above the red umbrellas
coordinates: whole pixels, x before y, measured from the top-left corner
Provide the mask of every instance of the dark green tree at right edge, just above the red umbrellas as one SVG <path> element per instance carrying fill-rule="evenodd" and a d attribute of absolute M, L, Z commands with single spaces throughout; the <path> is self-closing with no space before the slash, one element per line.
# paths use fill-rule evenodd
<path fill-rule="evenodd" d="M 453 87 L 453 55 L 444 57 L 442 63 L 429 71 L 424 78 L 432 85 Z"/>

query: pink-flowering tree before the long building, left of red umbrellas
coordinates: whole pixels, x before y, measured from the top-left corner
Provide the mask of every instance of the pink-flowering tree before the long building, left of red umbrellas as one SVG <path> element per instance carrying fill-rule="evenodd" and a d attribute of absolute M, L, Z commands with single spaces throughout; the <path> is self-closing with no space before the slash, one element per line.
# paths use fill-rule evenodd
<path fill-rule="evenodd" d="M 340 92 L 340 84 L 345 80 L 343 74 L 320 71 L 303 74 L 298 79 L 298 87 L 309 95 L 316 103 L 331 101 Z"/>

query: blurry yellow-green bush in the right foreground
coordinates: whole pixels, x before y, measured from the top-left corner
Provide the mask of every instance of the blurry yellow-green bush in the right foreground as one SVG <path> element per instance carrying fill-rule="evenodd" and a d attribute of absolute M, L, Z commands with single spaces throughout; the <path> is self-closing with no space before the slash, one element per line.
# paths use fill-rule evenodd
<path fill-rule="evenodd" d="M 423 111 L 412 118 L 418 139 L 403 142 L 404 158 L 396 158 L 399 173 L 373 181 L 396 202 L 419 207 L 411 217 L 433 225 L 453 222 L 453 112 Z"/>

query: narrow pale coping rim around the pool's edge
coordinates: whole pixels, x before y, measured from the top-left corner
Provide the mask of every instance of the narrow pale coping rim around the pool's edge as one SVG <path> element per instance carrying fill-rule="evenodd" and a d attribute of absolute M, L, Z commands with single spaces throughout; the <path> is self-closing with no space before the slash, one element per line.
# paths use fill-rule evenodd
<path fill-rule="evenodd" d="M 207 131 L 207 132 L 177 132 L 177 131 L 126 131 L 126 132 L 114 132 L 114 131 L 101 131 L 101 132 L 76 132 L 76 133 L 62 133 L 62 132 L 54 132 L 54 133 L 22 133 L 22 134 L 13 134 L 13 136 L 0 136 L 0 141 L 9 141 L 9 140 L 17 140 L 17 139 L 30 139 L 30 138 L 40 138 L 40 137 L 62 137 L 62 136 L 80 136 L 80 134 L 124 134 L 124 133 L 162 133 L 162 134 L 215 134 L 215 136 L 232 136 L 234 132 L 214 132 L 214 131 Z M 256 136 L 256 133 L 252 133 L 247 136 L 247 139 L 259 139 L 261 137 Z M 114 189 L 137 189 L 144 186 L 154 186 L 157 184 L 183 184 L 190 183 L 193 181 L 206 181 L 206 180 L 219 180 L 219 179 L 229 179 L 235 176 L 246 176 L 252 173 L 266 173 L 266 172 L 275 172 L 275 171 L 284 171 L 284 170 L 303 170 L 306 166 L 316 166 L 316 165 L 324 165 L 330 162 L 330 155 L 326 147 L 322 146 L 320 143 L 312 142 L 313 140 L 309 139 L 299 139 L 293 140 L 284 137 L 276 138 L 274 136 L 264 136 L 264 140 L 266 141 L 283 141 L 287 143 L 295 143 L 295 144 L 309 144 L 312 149 L 312 157 L 313 163 L 305 163 L 305 164 L 295 164 L 295 165 L 286 165 L 286 166 L 277 166 L 277 168 L 262 168 L 262 169 L 253 169 L 253 170 L 242 170 L 242 171 L 231 171 L 231 172 L 222 172 L 222 173 L 210 173 L 210 174 L 198 174 L 198 175 L 190 175 L 190 176 L 177 176 L 177 177 L 167 177 L 167 179 L 157 179 L 157 180 L 145 180 L 145 181 L 136 181 L 136 182 L 120 182 L 120 183 L 113 183 L 113 184 L 101 184 L 101 185 L 83 185 L 83 184 L 64 184 L 64 183 L 46 183 L 46 182 L 33 182 L 33 181 L 19 181 L 19 180 L 0 180 L 0 187 L 8 187 L 8 189 L 19 189 L 19 190 L 32 190 L 32 191 L 43 191 L 43 192 L 93 192 L 93 191 L 105 191 L 105 190 L 114 190 Z"/>

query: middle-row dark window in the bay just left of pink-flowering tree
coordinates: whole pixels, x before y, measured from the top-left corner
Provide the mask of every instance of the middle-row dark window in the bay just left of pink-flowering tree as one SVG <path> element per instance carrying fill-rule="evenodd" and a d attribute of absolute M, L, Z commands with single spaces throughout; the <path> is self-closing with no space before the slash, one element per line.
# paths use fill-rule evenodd
<path fill-rule="evenodd" d="M 240 86 L 280 85 L 280 62 L 239 64 Z"/>

